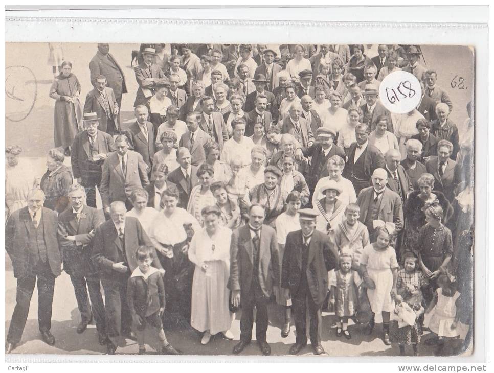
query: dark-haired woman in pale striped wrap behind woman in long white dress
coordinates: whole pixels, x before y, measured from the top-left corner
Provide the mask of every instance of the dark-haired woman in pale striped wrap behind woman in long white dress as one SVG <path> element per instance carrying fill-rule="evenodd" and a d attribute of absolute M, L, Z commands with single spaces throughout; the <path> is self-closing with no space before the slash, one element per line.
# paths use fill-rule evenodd
<path fill-rule="evenodd" d="M 203 214 L 201 214 L 201 212 L 203 211 L 203 208 L 216 204 L 216 198 L 214 198 L 213 193 L 211 193 L 209 189 L 213 182 L 214 169 L 204 163 L 197 169 L 197 177 L 199 178 L 199 185 L 194 186 L 190 192 L 187 212 L 196 218 L 202 226 Z"/>

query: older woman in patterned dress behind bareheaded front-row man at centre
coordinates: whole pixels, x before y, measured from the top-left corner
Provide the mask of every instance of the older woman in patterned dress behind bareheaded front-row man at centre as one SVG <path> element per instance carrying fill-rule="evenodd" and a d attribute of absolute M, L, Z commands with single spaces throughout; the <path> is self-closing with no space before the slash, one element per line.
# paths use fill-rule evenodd
<path fill-rule="evenodd" d="M 264 182 L 254 186 L 249 190 L 249 200 L 252 204 L 260 204 L 265 209 L 264 224 L 275 228 L 276 218 L 283 212 L 284 195 L 279 185 L 279 180 L 283 176 L 276 166 L 267 166 L 264 169 Z"/>

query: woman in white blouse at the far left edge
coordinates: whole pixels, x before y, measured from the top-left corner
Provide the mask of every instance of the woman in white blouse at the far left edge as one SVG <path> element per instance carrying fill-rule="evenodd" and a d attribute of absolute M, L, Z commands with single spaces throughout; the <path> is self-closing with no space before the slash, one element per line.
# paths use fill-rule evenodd
<path fill-rule="evenodd" d="M 5 149 L 5 203 L 10 214 L 28 205 L 29 191 L 39 184 L 29 160 L 19 158 L 22 151 L 17 145 Z"/>

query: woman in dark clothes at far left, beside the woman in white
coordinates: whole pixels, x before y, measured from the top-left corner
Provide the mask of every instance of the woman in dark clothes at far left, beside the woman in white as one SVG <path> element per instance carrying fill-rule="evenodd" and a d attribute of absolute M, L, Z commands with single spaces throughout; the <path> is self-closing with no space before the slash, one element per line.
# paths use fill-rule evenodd
<path fill-rule="evenodd" d="M 69 204 L 67 193 L 72 185 L 72 173 L 63 164 L 65 156 L 57 149 L 48 151 L 47 172 L 41 178 L 40 189 L 44 192 L 44 207 L 60 214 Z"/>

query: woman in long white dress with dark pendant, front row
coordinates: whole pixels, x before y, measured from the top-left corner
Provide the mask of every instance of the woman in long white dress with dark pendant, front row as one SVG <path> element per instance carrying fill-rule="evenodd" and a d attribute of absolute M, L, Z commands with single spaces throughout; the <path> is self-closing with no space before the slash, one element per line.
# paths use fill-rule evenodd
<path fill-rule="evenodd" d="M 195 264 L 190 324 L 204 332 L 200 343 L 207 344 L 212 335 L 220 332 L 233 339 L 227 288 L 232 231 L 220 226 L 218 207 L 207 206 L 201 213 L 205 227 L 194 234 L 188 252 L 189 260 Z"/>

